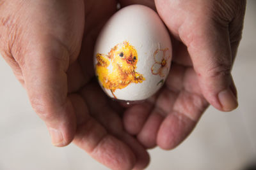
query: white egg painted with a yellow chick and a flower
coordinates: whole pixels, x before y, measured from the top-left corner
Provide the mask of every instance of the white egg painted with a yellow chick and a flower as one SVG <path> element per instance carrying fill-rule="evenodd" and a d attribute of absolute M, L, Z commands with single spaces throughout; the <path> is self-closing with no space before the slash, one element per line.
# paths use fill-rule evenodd
<path fill-rule="evenodd" d="M 157 13 L 131 5 L 111 17 L 95 45 L 95 74 L 108 96 L 147 99 L 161 88 L 172 60 L 169 33 Z"/>

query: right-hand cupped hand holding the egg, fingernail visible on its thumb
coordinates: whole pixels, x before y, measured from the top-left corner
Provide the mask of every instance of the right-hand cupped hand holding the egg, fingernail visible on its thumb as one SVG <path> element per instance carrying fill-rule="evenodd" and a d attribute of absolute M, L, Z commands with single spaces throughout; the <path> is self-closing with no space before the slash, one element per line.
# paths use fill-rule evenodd
<path fill-rule="evenodd" d="M 121 1 L 123 5 L 146 1 Z M 237 107 L 231 68 L 241 39 L 246 1 L 155 0 L 172 34 L 173 61 L 161 92 L 124 113 L 127 132 L 146 147 L 175 148 L 207 106 Z"/>

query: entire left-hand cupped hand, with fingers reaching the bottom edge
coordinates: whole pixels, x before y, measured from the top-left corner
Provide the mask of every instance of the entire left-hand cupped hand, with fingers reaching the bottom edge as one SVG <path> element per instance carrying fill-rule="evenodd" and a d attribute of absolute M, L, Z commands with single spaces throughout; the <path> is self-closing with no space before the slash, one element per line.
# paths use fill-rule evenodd
<path fill-rule="evenodd" d="M 111 169 L 142 169 L 148 153 L 93 78 L 93 45 L 115 11 L 114 0 L 2 0 L 0 52 L 54 145 L 74 139 Z"/>

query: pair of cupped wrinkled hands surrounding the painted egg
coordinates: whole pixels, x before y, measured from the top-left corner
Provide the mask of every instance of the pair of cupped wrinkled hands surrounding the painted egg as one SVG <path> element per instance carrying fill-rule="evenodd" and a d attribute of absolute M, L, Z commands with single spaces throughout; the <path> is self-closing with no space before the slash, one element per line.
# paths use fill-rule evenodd
<path fill-rule="evenodd" d="M 157 10 L 172 34 L 173 62 L 163 89 L 132 106 L 106 97 L 93 78 L 93 46 L 118 2 Z M 111 169 L 143 169 L 146 149 L 179 145 L 209 103 L 221 111 L 237 107 L 230 70 L 246 1 L 118 2 L 2 0 L 0 52 L 54 145 L 73 141 Z"/>

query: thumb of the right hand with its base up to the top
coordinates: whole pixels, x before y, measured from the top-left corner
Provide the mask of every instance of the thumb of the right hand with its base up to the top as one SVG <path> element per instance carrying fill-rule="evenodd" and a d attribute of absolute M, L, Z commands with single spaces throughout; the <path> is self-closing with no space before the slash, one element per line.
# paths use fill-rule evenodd
<path fill-rule="evenodd" d="M 236 20 L 237 30 L 241 30 L 243 19 L 239 19 L 238 14 L 235 17 L 232 12 L 243 11 L 243 5 L 237 7 L 241 8 L 240 10 L 232 10 L 233 8 L 227 5 L 227 9 L 224 5 L 216 5 L 220 4 L 220 1 L 155 0 L 155 2 L 157 11 L 170 32 L 188 47 L 205 99 L 221 111 L 234 110 L 238 104 L 236 87 L 230 71 L 236 49 L 231 50 L 231 48 L 237 48 L 241 32 L 232 31 L 230 27 L 234 25 L 230 22 Z M 237 2 L 239 1 L 227 3 L 223 1 L 225 4 Z M 218 11 L 222 12 L 218 13 Z M 215 15 L 228 15 L 228 17 L 217 18 Z M 238 38 L 237 41 L 232 39 L 230 41 L 230 34 L 234 34 Z"/>

